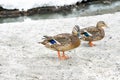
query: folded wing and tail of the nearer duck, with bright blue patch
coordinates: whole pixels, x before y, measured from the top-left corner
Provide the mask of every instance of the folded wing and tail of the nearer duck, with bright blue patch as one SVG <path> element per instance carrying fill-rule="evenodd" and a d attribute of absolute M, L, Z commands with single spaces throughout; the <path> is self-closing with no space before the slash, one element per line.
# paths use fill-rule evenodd
<path fill-rule="evenodd" d="M 40 42 L 43 45 L 49 45 L 49 46 L 64 46 L 65 44 L 69 44 L 71 42 L 70 38 L 71 34 L 58 34 L 55 36 L 44 36 L 43 41 Z"/>

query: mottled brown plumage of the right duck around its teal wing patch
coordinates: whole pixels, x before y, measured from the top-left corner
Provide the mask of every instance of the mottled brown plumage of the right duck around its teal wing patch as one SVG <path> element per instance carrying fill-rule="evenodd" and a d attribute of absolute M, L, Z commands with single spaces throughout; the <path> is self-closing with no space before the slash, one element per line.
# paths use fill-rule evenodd
<path fill-rule="evenodd" d="M 92 36 L 86 37 L 83 36 L 82 40 L 85 41 L 97 41 L 101 40 L 105 36 L 104 29 L 102 27 L 106 26 L 106 24 L 103 21 L 99 21 L 96 26 L 91 26 L 87 28 L 83 28 L 80 30 L 81 34 L 84 32 L 84 30 L 87 30 Z"/>

